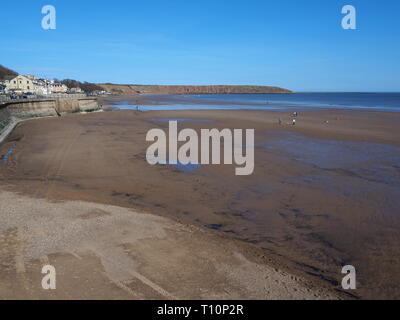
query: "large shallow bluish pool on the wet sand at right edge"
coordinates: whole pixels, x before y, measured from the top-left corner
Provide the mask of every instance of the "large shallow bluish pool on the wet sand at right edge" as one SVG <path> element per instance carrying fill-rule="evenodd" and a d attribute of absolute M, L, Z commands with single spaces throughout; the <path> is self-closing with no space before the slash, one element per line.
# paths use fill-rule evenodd
<path fill-rule="evenodd" d="M 290 159 L 374 182 L 400 185 L 400 147 L 382 143 L 313 139 L 285 132 L 263 144 Z"/>

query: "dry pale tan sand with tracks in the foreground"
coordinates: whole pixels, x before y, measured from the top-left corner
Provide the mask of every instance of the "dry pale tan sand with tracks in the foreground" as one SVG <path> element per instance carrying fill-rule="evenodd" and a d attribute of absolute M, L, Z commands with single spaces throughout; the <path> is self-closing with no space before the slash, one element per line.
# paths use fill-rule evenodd
<path fill-rule="evenodd" d="M 0 192 L 1 299 L 338 299 L 257 248 L 148 213 Z M 43 290 L 42 267 L 56 269 Z M 342 297 L 343 298 L 343 297 Z"/>

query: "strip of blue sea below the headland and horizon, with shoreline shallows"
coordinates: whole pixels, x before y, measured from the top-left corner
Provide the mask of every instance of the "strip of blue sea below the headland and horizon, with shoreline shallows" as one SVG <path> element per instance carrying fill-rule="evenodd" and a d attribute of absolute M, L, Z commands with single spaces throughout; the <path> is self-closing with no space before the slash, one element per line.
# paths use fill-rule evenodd
<path fill-rule="evenodd" d="M 147 105 L 148 104 L 148 105 Z M 120 101 L 119 109 L 137 109 Z M 141 111 L 349 109 L 400 112 L 400 93 L 204 94 L 148 96 Z"/>

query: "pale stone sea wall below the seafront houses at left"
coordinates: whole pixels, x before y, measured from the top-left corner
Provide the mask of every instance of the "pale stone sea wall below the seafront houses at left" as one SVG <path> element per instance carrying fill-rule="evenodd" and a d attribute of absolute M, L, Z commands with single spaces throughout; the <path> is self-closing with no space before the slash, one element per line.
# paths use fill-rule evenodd
<path fill-rule="evenodd" d="M 0 143 L 20 121 L 98 109 L 96 98 L 0 101 Z"/>

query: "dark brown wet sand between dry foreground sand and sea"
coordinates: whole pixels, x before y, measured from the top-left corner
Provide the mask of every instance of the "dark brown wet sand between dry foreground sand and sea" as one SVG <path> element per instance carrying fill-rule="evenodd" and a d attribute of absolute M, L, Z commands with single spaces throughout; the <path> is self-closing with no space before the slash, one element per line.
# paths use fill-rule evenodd
<path fill-rule="evenodd" d="M 254 128 L 254 174 L 235 176 L 231 165 L 191 172 L 148 165 L 146 133 L 166 129 L 154 119 L 168 118 L 212 120 L 181 122 L 180 129 Z M 0 146 L 8 157 L 1 185 L 208 228 L 332 290 L 351 264 L 358 280 L 352 295 L 400 298 L 400 115 L 307 111 L 296 126 L 290 122 L 290 114 L 272 111 L 113 111 L 28 121 Z"/>

